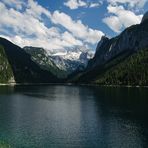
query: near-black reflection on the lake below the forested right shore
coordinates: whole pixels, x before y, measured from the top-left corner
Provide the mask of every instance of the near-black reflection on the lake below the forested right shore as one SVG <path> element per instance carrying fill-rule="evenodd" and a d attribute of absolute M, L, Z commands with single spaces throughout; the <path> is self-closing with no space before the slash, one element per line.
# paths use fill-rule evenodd
<path fill-rule="evenodd" d="M 95 87 L 97 99 L 108 107 L 145 112 L 148 104 L 147 88 Z"/>

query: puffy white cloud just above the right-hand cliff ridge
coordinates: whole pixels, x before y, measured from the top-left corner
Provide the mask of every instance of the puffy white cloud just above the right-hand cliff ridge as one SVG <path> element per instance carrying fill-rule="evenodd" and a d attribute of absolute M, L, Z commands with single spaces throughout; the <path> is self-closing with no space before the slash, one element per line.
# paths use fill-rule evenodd
<path fill-rule="evenodd" d="M 104 18 L 103 22 L 117 33 L 120 32 L 122 28 L 139 24 L 141 22 L 142 15 L 136 15 L 130 10 L 125 10 L 123 6 L 109 5 L 107 9 L 110 16 Z"/>

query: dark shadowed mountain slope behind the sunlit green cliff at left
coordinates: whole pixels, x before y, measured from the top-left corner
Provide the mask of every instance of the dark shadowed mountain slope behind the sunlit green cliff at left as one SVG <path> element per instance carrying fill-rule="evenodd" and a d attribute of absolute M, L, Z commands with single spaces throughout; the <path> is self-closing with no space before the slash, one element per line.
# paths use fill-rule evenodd
<path fill-rule="evenodd" d="M 22 48 L 4 38 L 0 38 L 0 45 L 7 55 L 16 83 L 50 83 L 58 81 L 56 76 L 42 69 Z"/>

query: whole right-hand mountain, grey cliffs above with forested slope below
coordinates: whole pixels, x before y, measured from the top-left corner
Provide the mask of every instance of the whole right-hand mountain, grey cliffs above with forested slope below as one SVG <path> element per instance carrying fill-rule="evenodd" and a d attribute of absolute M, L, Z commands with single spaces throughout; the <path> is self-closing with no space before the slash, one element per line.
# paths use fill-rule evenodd
<path fill-rule="evenodd" d="M 148 78 L 144 76 L 148 71 L 145 67 L 148 62 L 148 19 L 146 16 L 144 15 L 141 24 L 125 29 L 117 37 L 111 39 L 102 37 L 98 43 L 95 56 L 88 62 L 85 71 L 80 71 L 69 81 L 115 85 L 148 85 Z M 137 61 L 138 58 L 140 61 Z M 140 64 L 142 65 L 140 66 Z M 142 78 L 138 79 L 139 77 Z"/>

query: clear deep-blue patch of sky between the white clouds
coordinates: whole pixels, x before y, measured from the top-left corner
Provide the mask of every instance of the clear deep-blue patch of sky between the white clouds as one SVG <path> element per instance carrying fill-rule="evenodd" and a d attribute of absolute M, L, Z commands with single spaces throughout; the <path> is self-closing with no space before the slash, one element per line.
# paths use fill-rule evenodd
<path fill-rule="evenodd" d="M 66 1 L 65 1 L 66 2 Z M 78 9 L 70 9 L 63 5 L 63 0 L 38 0 L 38 3 L 48 8 L 51 12 L 55 10 L 60 10 L 68 15 L 70 15 L 74 20 L 81 19 L 82 22 L 89 27 L 97 30 L 102 30 L 106 32 L 109 36 L 115 36 L 112 30 L 110 30 L 103 22 L 102 19 L 106 14 L 107 2 L 99 0 L 90 0 L 88 2 L 98 3 L 99 6 L 93 8 L 79 7 Z"/>

